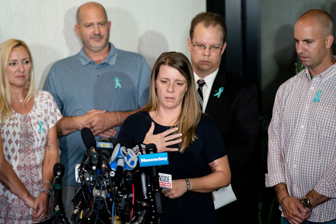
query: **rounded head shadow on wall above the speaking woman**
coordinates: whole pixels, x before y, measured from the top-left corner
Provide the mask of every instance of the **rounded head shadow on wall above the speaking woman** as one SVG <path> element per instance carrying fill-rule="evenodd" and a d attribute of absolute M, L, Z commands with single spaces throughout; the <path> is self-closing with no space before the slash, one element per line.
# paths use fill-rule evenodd
<path fill-rule="evenodd" d="M 139 38 L 138 53 L 144 56 L 151 69 L 160 54 L 168 49 L 167 39 L 156 31 L 146 31 Z"/>

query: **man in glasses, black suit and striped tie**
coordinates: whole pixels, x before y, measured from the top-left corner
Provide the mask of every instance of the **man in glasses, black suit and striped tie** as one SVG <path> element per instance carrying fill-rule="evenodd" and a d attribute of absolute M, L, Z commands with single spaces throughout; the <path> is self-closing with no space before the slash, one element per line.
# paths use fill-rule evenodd
<path fill-rule="evenodd" d="M 203 112 L 216 122 L 231 169 L 231 185 L 237 200 L 217 210 L 218 223 L 245 223 L 255 212 L 256 192 L 251 191 L 247 162 L 259 131 L 257 88 L 220 68 L 226 47 L 224 19 L 212 12 L 197 14 L 190 28 L 188 49 Z M 253 201 L 253 202 L 252 202 Z M 239 212 L 239 213 L 238 213 Z M 242 214 L 239 218 L 236 214 Z"/>

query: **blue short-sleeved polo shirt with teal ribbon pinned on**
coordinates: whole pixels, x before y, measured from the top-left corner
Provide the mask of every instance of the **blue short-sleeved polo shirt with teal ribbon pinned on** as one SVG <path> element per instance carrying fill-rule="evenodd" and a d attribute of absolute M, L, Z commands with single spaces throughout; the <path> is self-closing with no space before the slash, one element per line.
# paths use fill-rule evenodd
<path fill-rule="evenodd" d="M 51 93 L 64 117 L 81 116 L 91 109 L 129 111 L 147 103 L 150 74 L 144 57 L 110 43 L 109 55 L 99 64 L 88 58 L 84 48 L 55 62 L 43 90 Z M 58 140 L 60 162 L 66 169 L 62 181 L 75 186 L 75 165 L 81 163 L 86 150 L 80 131 Z"/>

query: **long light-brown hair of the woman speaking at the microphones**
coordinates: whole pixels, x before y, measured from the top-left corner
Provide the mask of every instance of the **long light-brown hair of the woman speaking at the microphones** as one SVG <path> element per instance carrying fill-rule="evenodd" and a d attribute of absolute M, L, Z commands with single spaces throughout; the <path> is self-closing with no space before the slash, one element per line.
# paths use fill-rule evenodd
<path fill-rule="evenodd" d="M 174 126 L 178 127 L 178 132 L 183 134 L 181 137 L 182 142 L 179 143 L 179 151 L 183 153 L 184 150 L 197 139 L 195 131 L 202 114 L 200 103 L 197 99 L 193 69 L 184 54 L 179 52 L 164 52 L 159 56 L 151 74 L 149 102 L 141 111 L 151 112 L 159 110 L 160 103 L 155 88 L 155 80 L 158 77 L 161 65 L 168 65 L 177 69 L 188 84 L 188 89 L 182 101 L 181 114 Z"/>

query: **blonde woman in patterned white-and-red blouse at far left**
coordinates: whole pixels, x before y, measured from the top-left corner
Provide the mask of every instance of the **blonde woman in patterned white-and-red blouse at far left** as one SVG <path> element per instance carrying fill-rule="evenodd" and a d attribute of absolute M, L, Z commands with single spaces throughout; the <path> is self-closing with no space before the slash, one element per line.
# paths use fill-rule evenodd
<path fill-rule="evenodd" d="M 35 91 L 31 52 L 21 40 L 0 44 L 0 89 L 0 223 L 52 223 L 61 114 L 48 92 Z"/>

